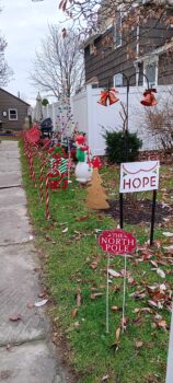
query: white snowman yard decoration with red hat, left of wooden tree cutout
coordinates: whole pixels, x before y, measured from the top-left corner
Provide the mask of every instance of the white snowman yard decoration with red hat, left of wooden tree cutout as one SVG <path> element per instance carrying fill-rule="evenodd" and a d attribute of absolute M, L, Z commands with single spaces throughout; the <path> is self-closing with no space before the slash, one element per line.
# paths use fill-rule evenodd
<path fill-rule="evenodd" d="M 90 159 L 90 148 L 86 146 L 86 139 L 83 135 L 76 138 L 77 160 L 76 179 L 81 184 L 85 184 L 92 177 L 92 164 Z"/>

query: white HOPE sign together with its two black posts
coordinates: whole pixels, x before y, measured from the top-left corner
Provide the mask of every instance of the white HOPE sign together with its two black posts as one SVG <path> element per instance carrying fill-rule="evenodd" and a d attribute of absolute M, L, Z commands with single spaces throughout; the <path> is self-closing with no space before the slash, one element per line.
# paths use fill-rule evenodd
<path fill-rule="evenodd" d="M 126 162 L 120 164 L 119 211 L 120 229 L 123 229 L 123 195 L 124 193 L 153 190 L 150 245 L 153 243 L 154 213 L 157 189 L 159 185 L 159 161 Z"/>

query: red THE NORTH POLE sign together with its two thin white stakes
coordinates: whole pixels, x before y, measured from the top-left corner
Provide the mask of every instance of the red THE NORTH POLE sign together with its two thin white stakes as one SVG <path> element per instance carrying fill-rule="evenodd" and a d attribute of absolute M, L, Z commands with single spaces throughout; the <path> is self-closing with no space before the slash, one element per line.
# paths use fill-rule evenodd
<path fill-rule="evenodd" d="M 124 268 L 124 291 L 123 291 L 123 318 L 122 330 L 124 333 L 125 327 L 125 307 L 126 307 L 126 276 L 127 276 L 127 254 L 130 254 L 136 248 L 136 239 L 131 233 L 127 233 L 124 230 L 104 230 L 99 236 L 99 245 L 103 252 L 107 253 L 107 283 L 106 283 L 106 334 L 109 332 L 108 321 L 108 274 L 109 274 L 109 259 L 115 255 L 125 256 Z"/>

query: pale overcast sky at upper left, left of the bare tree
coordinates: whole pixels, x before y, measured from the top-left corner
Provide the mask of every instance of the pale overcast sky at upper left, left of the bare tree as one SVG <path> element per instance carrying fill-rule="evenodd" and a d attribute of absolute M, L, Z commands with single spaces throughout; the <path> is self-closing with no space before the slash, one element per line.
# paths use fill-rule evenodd
<path fill-rule="evenodd" d="M 31 85 L 28 72 L 48 24 L 58 24 L 64 18 L 58 0 L 0 0 L 0 33 L 8 42 L 5 57 L 14 72 L 5 90 L 14 95 L 20 92 L 33 105 L 37 90 Z"/>

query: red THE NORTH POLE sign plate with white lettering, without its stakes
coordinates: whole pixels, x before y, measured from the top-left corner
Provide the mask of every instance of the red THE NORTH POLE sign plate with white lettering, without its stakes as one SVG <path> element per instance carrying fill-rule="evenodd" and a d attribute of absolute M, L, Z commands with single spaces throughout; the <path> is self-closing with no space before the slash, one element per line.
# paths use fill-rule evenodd
<path fill-rule="evenodd" d="M 99 236 L 99 245 L 104 252 L 120 255 L 129 254 L 136 247 L 136 239 L 124 230 L 104 230 Z"/>

